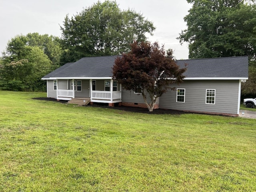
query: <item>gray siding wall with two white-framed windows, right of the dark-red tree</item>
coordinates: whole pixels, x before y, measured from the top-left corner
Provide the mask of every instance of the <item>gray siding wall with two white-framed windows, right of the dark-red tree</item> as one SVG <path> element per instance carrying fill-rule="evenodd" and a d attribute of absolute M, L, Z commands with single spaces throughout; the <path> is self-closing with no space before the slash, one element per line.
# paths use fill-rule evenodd
<path fill-rule="evenodd" d="M 159 108 L 196 112 L 237 114 L 239 80 L 186 80 L 176 88 L 185 89 L 185 102 L 176 102 L 176 91 L 160 97 Z M 206 104 L 206 89 L 215 89 L 215 104 Z"/>

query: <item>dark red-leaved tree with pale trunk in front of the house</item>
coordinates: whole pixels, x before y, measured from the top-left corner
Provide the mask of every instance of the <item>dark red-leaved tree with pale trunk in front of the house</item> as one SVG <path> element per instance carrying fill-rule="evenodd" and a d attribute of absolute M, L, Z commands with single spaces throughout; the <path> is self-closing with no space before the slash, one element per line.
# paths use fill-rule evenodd
<path fill-rule="evenodd" d="M 113 78 L 126 90 L 138 92 L 139 88 L 148 110 L 152 112 L 157 98 L 168 89 L 174 89 L 170 84 L 179 84 L 185 77 L 186 68 L 180 68 L 171 54 L 172 50 L 168 50 L 166 56 L 164 47 L 157 42 L 134 42 L 130 52 L 116 58 Z"/>

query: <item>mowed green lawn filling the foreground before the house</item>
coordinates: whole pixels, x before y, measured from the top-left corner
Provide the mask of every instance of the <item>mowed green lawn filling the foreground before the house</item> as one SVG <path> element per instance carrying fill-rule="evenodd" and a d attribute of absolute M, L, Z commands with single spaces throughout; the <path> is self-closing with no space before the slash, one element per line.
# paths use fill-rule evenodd
<path fill-rule="evenodd" d="M 256 191 L 256 120 L 0 92 L 1 192 Z"/>

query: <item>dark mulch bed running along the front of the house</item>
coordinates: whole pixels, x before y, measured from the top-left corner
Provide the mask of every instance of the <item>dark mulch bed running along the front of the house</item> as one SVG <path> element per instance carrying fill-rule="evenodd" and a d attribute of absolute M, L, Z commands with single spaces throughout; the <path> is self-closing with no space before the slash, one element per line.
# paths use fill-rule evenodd
<path fill-rule="evenodd" d="M 44 100 L 44 101 L 54 101 L 54 102 L 60 102 L 60 103 L 67 103 L 65 100 L 57 101 L 54 98 L 46 98 L 46 97 L 38 97 L 33 98 L 36 100 Z M 115 106 L 110 107 L 108 104 L 94 104 L 94 105 L 86 105 L 84 107 L 101 107 L 101 108 L 111 108 L 116 110 L 122 110 L 122 111 L 129 111 L 129 112 L 136 112 L 136 113 L 146 113 L 146 114 L 188 114 L 192 112 L 184 112 L 184 111 L 178 111 L 178 110 L 170 110 L 170 109 L 154 109 L 153 112 L 149 112 L 147 108 L 140 108 L 140 107 L 126 107 L 126 106 Z"/>

